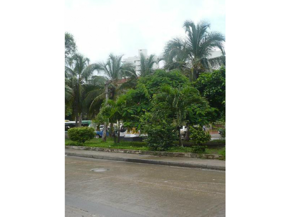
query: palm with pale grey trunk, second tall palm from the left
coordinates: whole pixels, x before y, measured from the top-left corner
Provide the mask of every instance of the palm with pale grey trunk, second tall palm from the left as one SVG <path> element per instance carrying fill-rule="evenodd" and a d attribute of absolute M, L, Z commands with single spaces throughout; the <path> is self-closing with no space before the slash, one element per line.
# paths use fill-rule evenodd
<path fill-rule="evenodd" d="M 101 99 L 105 98 L 106 102 L 109 100 L 109 98 L 115 99 L 118 95 L 117 93 L 120 93 L 123 90 L 123 85 L 118 85 L 118 81 L 123 77 L 134 76 L 134 66 L 130 63 L 122 62 L 122 57 L 123 55 L 116 56 L 110 54 L 106 62 L 94 64 L 94 69 L 96 69 L 98 73 L 102 73 L 103 75 L 107 76 L 108 79 L 105 82 L 104 91 L 92 101 L 90 106 L 91 109 L 93 108 L 94 104 L 99 102 Z M 106 141 L 107 124 L 108 123 L 106 122 L 104 123 L 102 136 L 103 141 Z"/>

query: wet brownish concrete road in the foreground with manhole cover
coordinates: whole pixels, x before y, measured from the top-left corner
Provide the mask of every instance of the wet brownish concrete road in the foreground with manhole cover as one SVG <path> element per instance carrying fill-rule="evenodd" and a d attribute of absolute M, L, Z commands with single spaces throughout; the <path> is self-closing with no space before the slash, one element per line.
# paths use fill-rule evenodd
<path fill-rule="evenodd" d="M 65 205 L 67 217 L 222 217 L 226 172 L 66 156 Z"/>

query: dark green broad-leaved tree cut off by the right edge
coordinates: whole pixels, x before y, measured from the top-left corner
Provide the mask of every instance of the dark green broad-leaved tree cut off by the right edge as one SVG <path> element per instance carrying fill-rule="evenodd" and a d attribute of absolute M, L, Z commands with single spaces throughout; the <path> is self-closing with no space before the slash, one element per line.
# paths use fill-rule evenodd
<path fill-rule="evenodd" d="M 218 118 L 226 119 L 226 68 L 201 74 L 194 82 L 194 87 L 208 100 L 211 107 L 218 109 Z"/>

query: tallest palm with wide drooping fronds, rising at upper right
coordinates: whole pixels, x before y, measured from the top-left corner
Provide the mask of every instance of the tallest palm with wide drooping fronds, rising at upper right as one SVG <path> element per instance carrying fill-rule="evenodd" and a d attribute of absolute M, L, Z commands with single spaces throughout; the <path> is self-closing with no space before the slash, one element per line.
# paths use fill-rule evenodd
<path fill-rule="evenodd" d="M 209 32 L 210 23 L 205 21 L 197 25 L 192 21 L 185 21 L 183 27 L 187 37 L 174 38 L 164 48 L 163 58 L 166 61 L 164 68 L 181 69 L 190 80 L 195 80 L 201 72 L 226 65 L 223 47 L 225 36 L 219 32 Z M 209 58 L 214 48 L 219 48 L 223 56 Z"/>

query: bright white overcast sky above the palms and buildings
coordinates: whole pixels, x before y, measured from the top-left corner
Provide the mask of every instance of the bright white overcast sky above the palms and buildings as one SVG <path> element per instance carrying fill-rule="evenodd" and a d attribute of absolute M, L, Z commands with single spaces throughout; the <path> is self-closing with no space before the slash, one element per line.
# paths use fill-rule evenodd
<path fill-rule="evenodd" d="M 226 35 L 225 0 L 64 0 L 64 32 L 92 62 L 108 54 L 161 54 L 166 41 L 184 35 L 185 20 L 207 20 Z"/>

